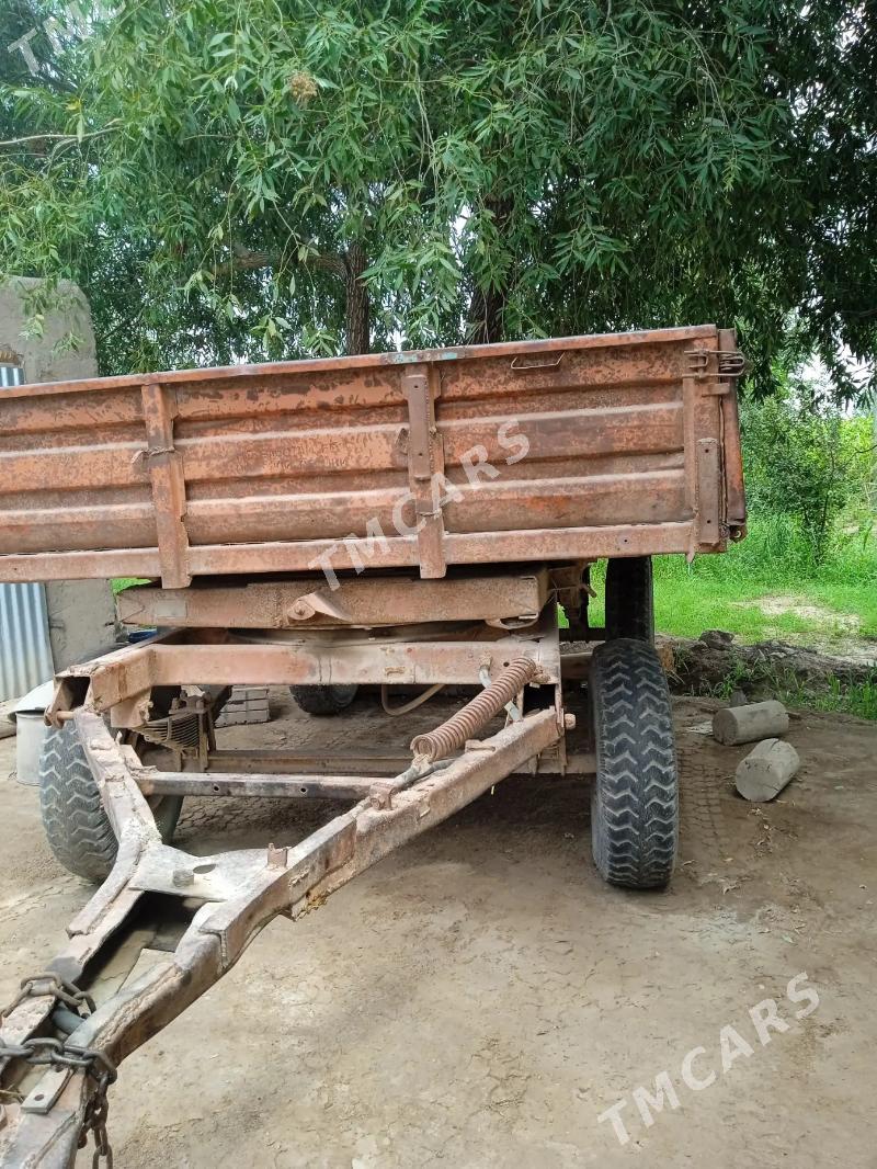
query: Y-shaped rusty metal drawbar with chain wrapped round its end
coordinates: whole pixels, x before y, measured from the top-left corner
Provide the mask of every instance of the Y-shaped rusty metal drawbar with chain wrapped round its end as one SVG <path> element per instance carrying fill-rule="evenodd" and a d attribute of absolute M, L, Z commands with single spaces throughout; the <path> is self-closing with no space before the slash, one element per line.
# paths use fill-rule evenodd
<path fill-rule="evenodd" d="M 499 696 L 502 697 L 502 696 Z M 441 823 L 558 742 L 557 712 L 512 721 L 462 755 L 415 760 L 375 780 L 297 844 L 192 856 L 161 843 L 132 748 L 80 708 L 77 733 L 118 839 L 106 881 L 68 927 L 48 970 L 0 1025 L 0 1164 L 69 1169 L 88 1134 L 112 1164 L 108 1090 L 116 1068 L 229 970 L 278 914 L 292 920 L 393 849 Z M 177 914 L 167 946 L 168 898 Z M 161 934 L 163 943 L 152 948 Z"/>

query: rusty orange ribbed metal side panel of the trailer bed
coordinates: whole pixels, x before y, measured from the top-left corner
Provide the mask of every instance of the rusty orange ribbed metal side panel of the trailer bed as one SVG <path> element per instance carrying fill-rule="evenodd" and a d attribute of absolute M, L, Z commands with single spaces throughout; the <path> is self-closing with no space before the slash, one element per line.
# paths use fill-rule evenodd
<path fill-rule="evenodd" d="M 313 568 L 347 537 L 337 570 L 426 576 L 716 551 L 727 533 L 720 518 L 702 539 L 697 443 L 721 447 L 716 497 L 730 484 L 738 520 L 741 482 L 719 347 L 705 325 L 12 388 L 0 580 L 179 588 Z M 438 506 L 436 473 L 453 487 Z"/>

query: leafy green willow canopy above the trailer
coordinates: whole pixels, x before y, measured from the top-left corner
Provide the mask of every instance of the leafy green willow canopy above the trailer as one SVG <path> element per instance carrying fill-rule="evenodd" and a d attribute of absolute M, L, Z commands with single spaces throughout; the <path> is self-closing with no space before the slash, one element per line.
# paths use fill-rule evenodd
<path fill-rule="evenodd" d="M 76 279 L 106 372 L 711 319 L 761 389 L 815 350 L 849 395 L 873 12 L 132 2 L 67 43 L 75 95 L 0 90 L 0 269 Z"/>

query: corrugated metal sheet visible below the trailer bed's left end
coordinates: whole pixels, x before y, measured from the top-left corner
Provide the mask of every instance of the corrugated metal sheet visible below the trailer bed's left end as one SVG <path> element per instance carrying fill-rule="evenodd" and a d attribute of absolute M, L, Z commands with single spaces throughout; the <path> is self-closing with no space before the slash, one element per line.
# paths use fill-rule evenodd
<path fill-rule="evenodd" d="M 55 672 L 43 584 L 0 584 L 0 701 Z"/>

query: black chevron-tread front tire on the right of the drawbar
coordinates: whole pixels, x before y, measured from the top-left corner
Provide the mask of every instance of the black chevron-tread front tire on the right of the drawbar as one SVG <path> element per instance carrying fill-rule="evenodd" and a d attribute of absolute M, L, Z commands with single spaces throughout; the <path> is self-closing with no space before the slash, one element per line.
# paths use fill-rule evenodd
<path fill-rule="evenodd" d="M 603 642 L 591 665 L 596 775 L 591 795 L 594 864 L 610 885 L 662 888 L 679 836 L 672 710 L 651 645 Z"/>

